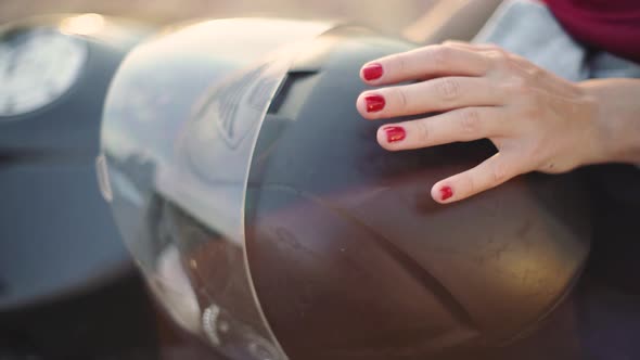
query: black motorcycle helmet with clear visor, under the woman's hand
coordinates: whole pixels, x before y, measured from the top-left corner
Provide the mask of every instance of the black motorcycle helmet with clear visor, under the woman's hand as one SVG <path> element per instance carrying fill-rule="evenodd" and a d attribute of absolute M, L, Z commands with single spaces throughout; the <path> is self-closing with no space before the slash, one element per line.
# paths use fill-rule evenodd
<path fill-rule="evenodd" d="M 391 153 L 359 68 L 414 44 L 357 26 L 212 21 L 133 51 L 99 171 L 157 299 L 232 359 L 428 359 L 526 336 L 589 249 L 572 176 L 438 205 L 487 142 Z"/>

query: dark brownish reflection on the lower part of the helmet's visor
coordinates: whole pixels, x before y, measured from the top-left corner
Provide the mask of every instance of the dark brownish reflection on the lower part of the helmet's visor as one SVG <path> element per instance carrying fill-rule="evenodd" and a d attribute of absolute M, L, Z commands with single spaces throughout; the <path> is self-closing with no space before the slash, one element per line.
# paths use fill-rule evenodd
<path fill-rule="evenodd" d="M 278 359 L 253 304 L 242 247 L 166 203 L 159 224 L 168 233 L 157 239 L 170 242 L 159 256 L 156 275 L 172 286 L 162 295 L 170 301 L 168 310 L 177 311 L 174 318 L 191 331 L 202 329 L 231 358 Z M 171 268 L 163 266 L 165 261 Z"/>

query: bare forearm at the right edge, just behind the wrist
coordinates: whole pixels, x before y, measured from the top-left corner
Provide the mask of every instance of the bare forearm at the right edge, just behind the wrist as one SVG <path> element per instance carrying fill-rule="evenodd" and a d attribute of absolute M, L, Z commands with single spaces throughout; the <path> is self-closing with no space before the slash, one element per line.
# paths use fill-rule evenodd
<path fill-rule="evenodd" d="M 640 79 L 580 83 L 596 103 L 601 163 L 640 164 Z"/>

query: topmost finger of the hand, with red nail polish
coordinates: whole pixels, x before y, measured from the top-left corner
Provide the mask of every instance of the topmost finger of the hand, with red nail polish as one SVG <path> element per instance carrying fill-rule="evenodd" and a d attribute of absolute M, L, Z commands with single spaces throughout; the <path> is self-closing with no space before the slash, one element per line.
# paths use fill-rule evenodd
<path fill-rule="evenodd" d="M 369 85 L 388 85 L 441 76 L 483 76 L 489 60 L 470 49 L 428 46 L 374 60 L 362 66 L 360 77 Z"/>

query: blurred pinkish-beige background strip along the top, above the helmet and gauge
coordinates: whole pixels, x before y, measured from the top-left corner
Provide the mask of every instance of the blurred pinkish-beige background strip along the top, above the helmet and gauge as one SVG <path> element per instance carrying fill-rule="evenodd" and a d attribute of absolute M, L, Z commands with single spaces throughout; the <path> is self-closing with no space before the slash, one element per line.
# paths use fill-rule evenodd
<path fill-rule="evenodd" d="M 386 30 L 407 26 L 438 0 L 3 0 L 0 23 L 49 13 L 94 12 L 154 23 L 195 17 L 277 15 L 349 18 Z M 449 0 L 450 1 L 450 0 Z"/>

